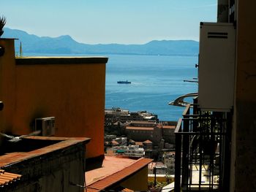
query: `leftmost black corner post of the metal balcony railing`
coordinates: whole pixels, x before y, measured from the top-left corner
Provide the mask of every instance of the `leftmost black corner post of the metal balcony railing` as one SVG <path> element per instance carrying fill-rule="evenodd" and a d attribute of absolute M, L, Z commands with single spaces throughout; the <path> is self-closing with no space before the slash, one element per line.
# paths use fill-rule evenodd
<path fill-rule="evenodd" d="M 181 134 L 179 134 L 180 128 L 181 128 L 181 121 L 180 118 L 178 120 L 178 124 L 176 126 L 175 133 L 175 184 L 174 184 L 174 192 L 180 192 L 181 191 Z"/>

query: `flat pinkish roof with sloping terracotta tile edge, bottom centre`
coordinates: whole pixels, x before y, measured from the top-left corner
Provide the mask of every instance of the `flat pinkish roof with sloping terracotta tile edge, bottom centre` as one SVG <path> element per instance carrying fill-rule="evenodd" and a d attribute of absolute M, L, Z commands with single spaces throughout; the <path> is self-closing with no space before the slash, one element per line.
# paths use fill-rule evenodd
<path fill-rule="evenodd" d="M 138 172 L 152 160 L 139 158 L 138 160 L 124 157 L 105 156 L 102 168 L 86 172 L 87 191 L 101 191 L 129 175 Z"/>

